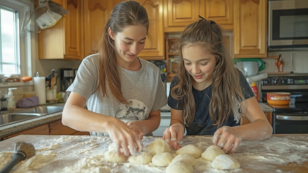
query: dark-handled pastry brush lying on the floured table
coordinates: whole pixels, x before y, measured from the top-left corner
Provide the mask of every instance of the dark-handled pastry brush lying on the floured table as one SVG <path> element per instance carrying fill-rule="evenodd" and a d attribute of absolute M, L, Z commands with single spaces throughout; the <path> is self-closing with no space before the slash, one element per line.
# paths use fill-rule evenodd
<path fill-rule="evenodd" d="M 34 146 L 27 142 L 17 142 L 14 148 L 12 160 L 0 171 L 0 173 L 9 173 L 16 164 L 35 155 Z"/>

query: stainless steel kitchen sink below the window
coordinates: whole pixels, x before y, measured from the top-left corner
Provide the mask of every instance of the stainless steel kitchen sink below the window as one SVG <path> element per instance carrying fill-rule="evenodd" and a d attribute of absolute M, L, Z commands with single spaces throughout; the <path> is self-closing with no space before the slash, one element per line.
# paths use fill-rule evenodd
<path fill-rule="evenodd" d="M 59 106 L 59 105 L 43 105 L 43 106 L 28 108 L 25 110 L 0 114 L 0 126 L 25 121 L 56 112 L 61 112 L 63 110 L 63 107 L 64 106 Z"/>

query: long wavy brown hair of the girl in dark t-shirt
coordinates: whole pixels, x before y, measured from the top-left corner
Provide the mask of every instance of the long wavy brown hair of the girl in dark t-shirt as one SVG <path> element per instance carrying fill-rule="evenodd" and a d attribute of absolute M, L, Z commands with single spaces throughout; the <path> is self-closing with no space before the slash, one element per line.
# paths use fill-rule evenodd
<path fill-rule="evenodd" d="M 193 77 L 185 70 L 182 49 L 185 45 L 202 45 L 204 50 L 216 57 L 216 67 L 212 77 L 212 99 L 209 114 L 213 125 L 221 127 L 231 114 L 234 119 L 242 119 L 244 101 L 240 86 L 239 70 L 234 68 L 233 59 L 223 42 L 223 30 L 214 22 L 206 19 L 189 24 L 179 40 L 179 66 L 177 73 L 179 83 L 172 88 L 171 96 L 182 101 L 183 116 L 187 126 L 194 119 L 195 101 L 192 93 Z M 239 111 L 240 110 L 240 111 Z"/>

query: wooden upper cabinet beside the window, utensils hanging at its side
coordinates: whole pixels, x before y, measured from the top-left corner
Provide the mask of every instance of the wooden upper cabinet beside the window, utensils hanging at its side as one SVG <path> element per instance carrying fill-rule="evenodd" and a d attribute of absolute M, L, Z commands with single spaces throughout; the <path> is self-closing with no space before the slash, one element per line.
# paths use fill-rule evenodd
<path fill-rule="evenodd" d="M 39 59 L 81 60 L 84 56 L 83 18 L 80 0 L 57 0 L 69 14 L 38 34 Z"/>

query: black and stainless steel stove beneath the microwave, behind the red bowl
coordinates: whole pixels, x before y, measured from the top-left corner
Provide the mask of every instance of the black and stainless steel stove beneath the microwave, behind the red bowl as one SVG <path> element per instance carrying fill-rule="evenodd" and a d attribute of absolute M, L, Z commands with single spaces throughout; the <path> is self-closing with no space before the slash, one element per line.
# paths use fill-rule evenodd
<path fill-rule="evenodd" d="M 267 92 L 290 92 L 288 105 L 273 107 L 274 134 L 308 133 L 308 73 L 268 74 L 261 81 L 261 102 L 266 103 Z"/>

